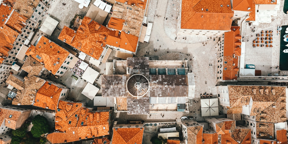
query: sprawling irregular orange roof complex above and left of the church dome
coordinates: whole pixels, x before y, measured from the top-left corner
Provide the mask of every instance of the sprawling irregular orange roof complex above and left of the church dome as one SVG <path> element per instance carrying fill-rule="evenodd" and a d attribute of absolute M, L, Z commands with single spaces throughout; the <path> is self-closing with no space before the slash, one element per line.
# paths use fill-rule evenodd
<path fill-rule="evenodd" d="M 66 43 L 97 60 L 100 58 L 106 44 L 136 52 L 139 39 L 124 32 L 119 35 L 119 31 L 112 31 L 86 16 L 83 18 L 77 32 L 74 35 L 73 33 L 74 30 L 65 26 L 58 39 L 61 41 L 66 39 Z"/>

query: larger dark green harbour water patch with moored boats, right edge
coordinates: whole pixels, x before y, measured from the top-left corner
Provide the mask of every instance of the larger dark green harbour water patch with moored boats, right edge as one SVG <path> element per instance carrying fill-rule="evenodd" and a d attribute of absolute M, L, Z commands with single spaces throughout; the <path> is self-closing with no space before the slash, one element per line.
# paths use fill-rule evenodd
<path fill-rule="evenodd" d="M 288 0 L 285 0 L 288 1 Z M 284 41 L 283 35 L 285 35 L 285 31 L 287 26 L 282 26 L 281 34 L 280 34 L 280 58 L 279 58 L 279 69 L 281 71 L 288 71 L 288 53 L 284 53 L 283 50 L 288 49 L 288 42 Z"/>

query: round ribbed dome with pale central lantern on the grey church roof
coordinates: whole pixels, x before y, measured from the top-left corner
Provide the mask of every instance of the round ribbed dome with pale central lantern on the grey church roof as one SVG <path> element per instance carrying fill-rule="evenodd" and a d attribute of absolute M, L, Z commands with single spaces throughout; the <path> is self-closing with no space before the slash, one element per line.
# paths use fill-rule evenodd
<path fill-rule="evenodd" d="M 135 74 L 127 80 L 126 88 L 131 96 L 142 97 L 149 90 L 149 81 L 144 75 Z"/>

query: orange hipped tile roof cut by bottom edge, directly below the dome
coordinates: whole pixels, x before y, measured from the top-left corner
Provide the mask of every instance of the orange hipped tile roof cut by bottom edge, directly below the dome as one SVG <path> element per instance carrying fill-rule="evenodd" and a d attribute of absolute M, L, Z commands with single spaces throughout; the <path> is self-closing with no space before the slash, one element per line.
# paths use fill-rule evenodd
<path fill-rule="evenodd" d="M 142 143 L 143 132 L 144 128 L 113 128 L 112 144 Z"/>

